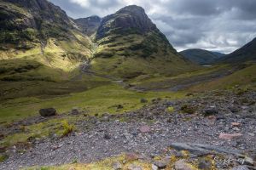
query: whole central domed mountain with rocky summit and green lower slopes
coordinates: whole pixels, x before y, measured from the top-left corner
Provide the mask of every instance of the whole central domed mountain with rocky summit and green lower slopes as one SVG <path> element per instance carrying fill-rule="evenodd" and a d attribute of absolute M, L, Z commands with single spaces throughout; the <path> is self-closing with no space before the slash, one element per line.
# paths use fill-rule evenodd
<path fill-rule="evenodd" d="M 136 5 L 104 17 L 96 42 L 91 70 L 102 74 L 131 78 L 144 74 L 174 75 L 195 68 L 177 54 L 144 9 Z"/>

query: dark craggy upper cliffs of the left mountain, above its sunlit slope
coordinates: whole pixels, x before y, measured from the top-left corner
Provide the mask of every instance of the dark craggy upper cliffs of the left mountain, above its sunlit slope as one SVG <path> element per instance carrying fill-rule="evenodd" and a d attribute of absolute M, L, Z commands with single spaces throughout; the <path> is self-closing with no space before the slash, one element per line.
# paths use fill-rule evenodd
<path fill-rule="evenodd" d="M 61 8 L 46 0 L 1 0 L 0 43 L 32 48 L 48 38 L 73 38 L 75 26 Z M 28 43 L 30 42 L 30 43 Z M 26 44 L 26 45 L 25 45 Z"/>

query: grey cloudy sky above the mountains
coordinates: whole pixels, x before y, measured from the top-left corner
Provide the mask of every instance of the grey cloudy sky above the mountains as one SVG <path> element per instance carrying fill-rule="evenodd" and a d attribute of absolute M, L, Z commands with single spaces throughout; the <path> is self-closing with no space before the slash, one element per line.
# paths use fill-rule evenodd
<path fill-rule="evenodd" d="M 204 48 L 230 53 L 256 37 L 256 0 L 49 0 L 74 19 L 104 17 L 136 4 L 177 51 Z"/>

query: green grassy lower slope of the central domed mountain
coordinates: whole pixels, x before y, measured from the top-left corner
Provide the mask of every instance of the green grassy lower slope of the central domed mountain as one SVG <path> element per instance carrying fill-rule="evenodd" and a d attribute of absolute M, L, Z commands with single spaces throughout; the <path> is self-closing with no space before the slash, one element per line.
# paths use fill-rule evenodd
<path fill-rule="evenodd" d="M 189 61 L 172 54 L 172 49 L 154 33 L 106 39 L 97 48 L 96 58 L 91 62 L 92 71 L 133 78 L 145 74 L 172 76 L 195 68 Z"/>

